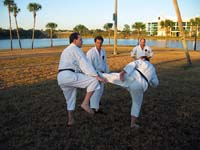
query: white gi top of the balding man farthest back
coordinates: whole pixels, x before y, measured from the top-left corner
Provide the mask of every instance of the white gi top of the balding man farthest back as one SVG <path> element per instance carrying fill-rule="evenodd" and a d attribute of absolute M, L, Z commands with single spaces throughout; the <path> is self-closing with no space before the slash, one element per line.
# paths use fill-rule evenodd
<path fill-rule="evenodd" d="M 131 51 L 131 57 L 139 59 L 141 56 L 153 57 L 153 51 L 149 46 L 144 46 L 142 49 L 140 45 L 133 48 Z"/>

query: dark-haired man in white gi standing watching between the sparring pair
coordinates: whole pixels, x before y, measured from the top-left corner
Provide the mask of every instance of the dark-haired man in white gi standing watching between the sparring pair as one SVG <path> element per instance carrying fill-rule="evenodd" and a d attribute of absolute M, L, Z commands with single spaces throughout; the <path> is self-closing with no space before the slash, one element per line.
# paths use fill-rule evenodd
<path fill-rule="evenodd" d="M 102 76 L 102 73 L 109 73 L 107 64 L 106 51 L 102 48 L 103 37 L 96 36 L 94 39 L 95 46 L 87 52 L 87 58 L 91 62 L 96 72 Z M 104 91 L 104 83 L 100 83 L 100 89 L 95 90 L 90 99 L 90 108 L 99 112 L 99 103 Z"/>

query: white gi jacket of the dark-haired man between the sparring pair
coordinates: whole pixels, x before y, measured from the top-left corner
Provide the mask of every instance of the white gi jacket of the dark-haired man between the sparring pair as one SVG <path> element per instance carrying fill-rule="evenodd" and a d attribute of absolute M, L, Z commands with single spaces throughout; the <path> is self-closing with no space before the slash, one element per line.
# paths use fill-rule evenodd
<path fill-rule="evenodd" d="M 91 48 L 87 52 L 87 58 L 91 62 L 94 69 L 101 74 L 101 72 L 108 73 L 109 68 L 107 65 L 107 58 L 106 58 L 106 52 L 104 49 L 101 49 L 100 53 L 96 49 L 96 47 Z"/>

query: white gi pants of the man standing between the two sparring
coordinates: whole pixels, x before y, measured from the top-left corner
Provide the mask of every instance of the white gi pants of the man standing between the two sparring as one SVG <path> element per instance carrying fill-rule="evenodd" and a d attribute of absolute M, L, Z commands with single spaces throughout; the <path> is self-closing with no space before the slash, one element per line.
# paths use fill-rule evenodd
<path fill-rule="evenodd" d="M 99 103 L 104 91 L 104 83 L 100 83 L 100 89 L 95 90 L 90 98 L 90 108 L 99 109 Z"/>

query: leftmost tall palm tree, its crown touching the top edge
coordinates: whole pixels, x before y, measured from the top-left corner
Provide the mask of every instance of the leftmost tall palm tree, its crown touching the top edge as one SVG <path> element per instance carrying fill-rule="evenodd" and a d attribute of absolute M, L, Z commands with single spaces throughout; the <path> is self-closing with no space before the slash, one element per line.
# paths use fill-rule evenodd
<path fill-rule="evenodd" d="M 4 6 L 8 7 L 8 16 L 9 16 L 9 25 L 10 25 L 10 49 L 13 50 L 13 45 L 12 45 L 12 26 L 11 26 L 11 7 L 14 5 L 14 0 L 4 0 Z"/>

